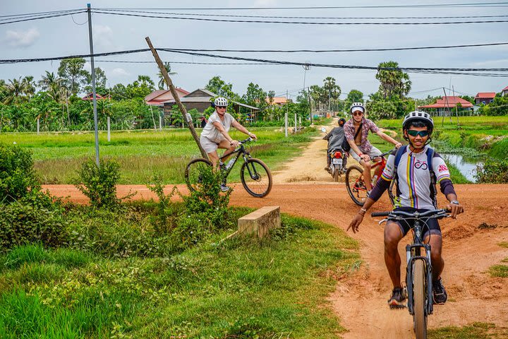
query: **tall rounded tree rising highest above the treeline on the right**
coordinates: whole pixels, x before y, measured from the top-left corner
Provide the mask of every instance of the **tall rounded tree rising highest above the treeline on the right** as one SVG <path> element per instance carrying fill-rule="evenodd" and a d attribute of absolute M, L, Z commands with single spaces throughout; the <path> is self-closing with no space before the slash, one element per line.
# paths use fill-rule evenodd
<path fill-rule="evenodd" d="M 380 81 L 379 91 L 385 98 L 398 96 L 403 99 L 411 91 L 409 76 L 399 69 L 396 61 L 380 63 L 375 77 Z"/>

